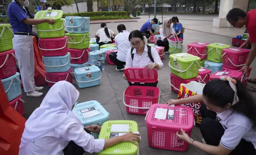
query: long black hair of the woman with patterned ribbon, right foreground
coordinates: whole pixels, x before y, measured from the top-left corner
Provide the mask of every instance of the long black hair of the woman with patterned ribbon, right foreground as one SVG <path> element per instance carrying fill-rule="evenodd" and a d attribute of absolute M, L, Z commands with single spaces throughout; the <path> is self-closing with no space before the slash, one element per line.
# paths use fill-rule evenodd
<path fill-rule="evenodd" d="M 236 81 L 239 102 L 231 108 L 256 122 L 256 104 L 252 96 L 246 91 L 246 87 L 239 80 L 236 79 Z M 221 79 L 209 81 L 203 89 L 203 96 L 208 102 L 220 108 L 224 108 L 228 103 L 232 104 L 234 95 L 235 92 L 231 89 L 229 82 Z"/>

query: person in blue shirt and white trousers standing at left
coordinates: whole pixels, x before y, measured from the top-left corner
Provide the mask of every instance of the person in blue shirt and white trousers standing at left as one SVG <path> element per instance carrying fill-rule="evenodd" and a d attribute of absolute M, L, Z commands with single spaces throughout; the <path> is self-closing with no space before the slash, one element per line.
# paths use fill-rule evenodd
<path fill-rule="evenodd" d="M 54 24 L 52 19 L 33 19 L 34 15 L 27 9 L 28 0 L 12 0 L 7 12 L 10 24 L 14 30 L 12 39 L 15 55 L 18 60 L 19 70 L 23 83 L 24 91 L 27 96 L 39 97 L 43 87 L 36 87 L 34 81 L 35 60 L 33 49 L 33 32 L 32 25 L 49 23 Z"/>

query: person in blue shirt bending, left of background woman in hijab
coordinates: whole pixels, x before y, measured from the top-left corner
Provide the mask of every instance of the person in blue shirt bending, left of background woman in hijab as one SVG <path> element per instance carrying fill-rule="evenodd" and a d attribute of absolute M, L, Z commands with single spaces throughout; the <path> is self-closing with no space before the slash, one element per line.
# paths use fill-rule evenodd
<path fill-rule="evenodd" d="M 142 27 L 140 28 L 140 32 L 143 33 L 144 36 L 146 36 L 147 38 L 149 38 L 149 36 L 154 36 L 154 32 L 155 32 L 155 29 L 157 28 L 154 28 L 152 27 L 152 24 L 157 24 L 158 23 L 158 20 L 156 18 L 153 18 L 151 21 L 147 21 L 146 23 L 144 23 L 144 25 L 142 25 Z"/>

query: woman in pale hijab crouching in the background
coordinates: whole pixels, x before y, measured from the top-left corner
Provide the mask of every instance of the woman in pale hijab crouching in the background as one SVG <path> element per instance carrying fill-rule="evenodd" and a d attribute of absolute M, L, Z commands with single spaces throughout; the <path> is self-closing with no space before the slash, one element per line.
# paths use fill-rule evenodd
<path fill-rule="evenodd" d="M 159 30 L 161 40 L 157 40 L 157 45 L 165 47 L 165 53 L 169 53 L 169 42 L 167 38 L 170 38 L 173 35 L 173 33 L 175 33 L 174 28 L 171 27 L 171 23 L 172 20 L 170 18 L 165 18 L 163 22 L 163 28 Z"/>

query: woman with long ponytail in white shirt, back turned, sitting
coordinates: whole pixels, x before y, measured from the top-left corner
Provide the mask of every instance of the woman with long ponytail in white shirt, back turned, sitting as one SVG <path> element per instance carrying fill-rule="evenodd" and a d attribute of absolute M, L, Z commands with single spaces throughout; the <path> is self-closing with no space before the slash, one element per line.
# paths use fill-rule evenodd
<path fill-rule="evenodd" d="M 96 34 L 95 38 L 96 42 L 99 44 L 99 46 L 107 44 L 107 43 L 113 43 L 113 37 L 116 36 L 116 34 L 111 30 L 107 28 L 106 23 L 101 23 L 101 29 L 99 29 Z"/>

